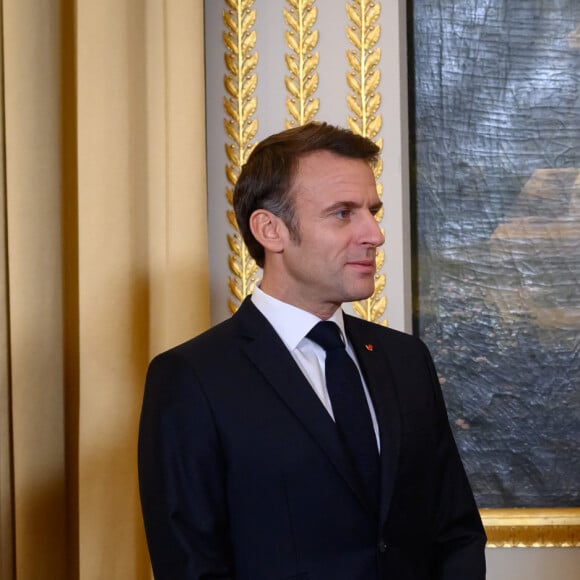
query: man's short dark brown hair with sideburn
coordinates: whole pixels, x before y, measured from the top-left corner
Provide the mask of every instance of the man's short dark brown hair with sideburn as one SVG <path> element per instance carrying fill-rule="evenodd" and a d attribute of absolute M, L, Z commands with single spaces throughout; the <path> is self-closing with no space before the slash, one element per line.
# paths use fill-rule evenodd
<path fill-rule="evenodd" d="M 260 267 L 264 266 L 264 248 L 250 230 L 250 216 L 257 209 L 272 212 L 299 241 L 291 190 L 298 161 L 315 151 L 362 159 L 372 167 L 380 149 L 370 139 L 328 123 L 307 123 L 258 143 L 242 167 L 234 188 L 234 210 L 244 243 Z"/>

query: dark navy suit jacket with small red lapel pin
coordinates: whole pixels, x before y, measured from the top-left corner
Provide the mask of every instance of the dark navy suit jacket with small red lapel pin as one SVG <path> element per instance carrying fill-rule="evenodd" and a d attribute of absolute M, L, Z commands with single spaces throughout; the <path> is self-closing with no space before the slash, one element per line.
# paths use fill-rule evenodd
<path fill-rule="evenodd" d="M 378 509 L 247 299 L 149 367 L 139 478 L 157 580 L 485 578 L 485 534 L 426 347 L 345 325 L 380 430 Z"/>

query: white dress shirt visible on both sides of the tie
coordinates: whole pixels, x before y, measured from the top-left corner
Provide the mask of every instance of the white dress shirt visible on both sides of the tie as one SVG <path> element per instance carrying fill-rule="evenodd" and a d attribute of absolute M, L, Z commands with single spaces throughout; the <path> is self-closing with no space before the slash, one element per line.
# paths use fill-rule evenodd
<path fill-rule="evenodd" d="M 308 379 L 312 389 L 334 420 L 332 413 L 332 404 L 326 389 L 326 380 L 324 378 L 324 363 L 326 359 L 325 350 L 313 340 L 310 340 L 306 335 L 320 322 L 320 318 L 314 316 L 310 312 L 306 312 L 296 306 L 282 302 L 277 298 L 273 298 L 266 294 L 256 284 L 252 293 L 252 303 L 265 316 L 268 322 L 274 327 L 274 330 L 290 351 L 290 354 L 296 361 L 296 364 Z M 337 308 L 336 312 L 328 319 L 335 322 L 340 328 L 340 335 L 346 345 L 346 351 L 354 361 L 361 381 L 365 390 L 365 397 L 369 405 L 371 418 L 373 421 L 373 429 L 375 437 L 377 438 L 377 446 L 380 450 L 379 428 L 377 418 L 373 408 L 373 404 L 366 386 L 364 377 L 360 372 L 359 364 L 354 355 L 354 351 L 348 341 L 344 330 L 344 317 L 341 308 Z"/>

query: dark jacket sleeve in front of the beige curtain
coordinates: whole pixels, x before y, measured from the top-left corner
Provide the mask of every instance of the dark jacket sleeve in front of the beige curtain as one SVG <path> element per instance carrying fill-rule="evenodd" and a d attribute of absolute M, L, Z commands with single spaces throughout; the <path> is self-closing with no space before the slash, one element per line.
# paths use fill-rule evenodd
<path fill-rule="evenodd" d="M 149 366 L 139 486 L 156 580 L 234 578 L 218 433 L 194 369 L 174 351 Z"/>

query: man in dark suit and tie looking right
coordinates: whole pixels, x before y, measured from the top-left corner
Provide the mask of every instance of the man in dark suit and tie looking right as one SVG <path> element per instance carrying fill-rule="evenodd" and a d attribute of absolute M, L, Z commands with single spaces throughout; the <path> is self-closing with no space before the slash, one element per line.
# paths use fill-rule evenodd
<path fill-rule="evenodd" d="M 156 357 L 139 435 L 157 580 L 481 580 L 485 534 L 412 336 L 343 313 L 384 242 L 370 140 L 273 135 L 234 192 L 263 277 Z"/>

